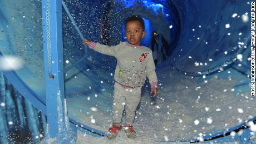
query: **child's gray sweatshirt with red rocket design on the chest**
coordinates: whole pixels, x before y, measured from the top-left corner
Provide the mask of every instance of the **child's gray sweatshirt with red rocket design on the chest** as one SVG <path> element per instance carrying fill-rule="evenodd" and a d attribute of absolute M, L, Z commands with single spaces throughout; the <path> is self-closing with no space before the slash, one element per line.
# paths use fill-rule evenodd
<path fill-rule="evenodd" d="M 116 46 L 105 46 L 90 42 L 89 48 L 117 59 L 114 80 L 123 86 L 140 87 L 146 77 L 152 87 L 157 87 L 154 59 L 150 48 L 136 47 L 128 42 L 120 42 Z"/>

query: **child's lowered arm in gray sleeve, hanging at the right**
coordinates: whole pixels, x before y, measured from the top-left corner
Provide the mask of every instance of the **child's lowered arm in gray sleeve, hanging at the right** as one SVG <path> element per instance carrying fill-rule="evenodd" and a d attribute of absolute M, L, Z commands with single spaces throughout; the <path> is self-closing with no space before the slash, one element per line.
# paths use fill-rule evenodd
<path fill-rule="evenodd" d="M 157 77 L 155 72 L 155 63 L 152 56 L 152 51 L 150 51 L 147 57 L 149 57 L 149 59 L 147 59 L 146 72 L 147 72 L 147 78 L 149 78 L 149 83 L 151 86 L 150 93 L 154 92 L 156 97 L 157 96 Z"/>

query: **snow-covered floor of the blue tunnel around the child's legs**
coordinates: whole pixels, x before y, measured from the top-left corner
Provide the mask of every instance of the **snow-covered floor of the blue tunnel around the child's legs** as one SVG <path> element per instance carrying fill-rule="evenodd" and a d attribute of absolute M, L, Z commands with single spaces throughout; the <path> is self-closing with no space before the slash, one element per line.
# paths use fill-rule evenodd
<path fill-rule="evenodd" d="M 244 93 L 234 88 L 239 83 L 232 80 L 233 75 L 237 75 L 236 71 L 230 70 L 230 76 L 225 79 L 215 75 L 208 81 L 200 81 L 200 78 L 181 75 L 166 63 L 162 66 L 158 68 L 161 71 L 156 70 L 160 85 L 156 105 L 151 105 L 149 87 L 142 88 L 141 102 L 134 121 L 137 138 L 126 138 L 127 143 L 154 143 L 166 138 L 189 140 L 199 135 L 225 131 L 255 117 L 255 98 L 250 97 L 249 90 Z M 72 98 L 68 100 L 68 111 L 72 114 L 85 108 L 86 104 L 77 101 Z M 112 122 L 111 109 L 105 113 L 97 112 L 99 116 L 93 115 L 97 121 L 95 124 L 91 123 L 91 118 L 83 110 L 80 110 L 81 115 L 70 117 L 97 130 L 107 131 Z M 125 137 L 125 133 L 121 132 L 113 142 L 122 141 Z M 101 138 L 93 140 L 99 142 Z"/>

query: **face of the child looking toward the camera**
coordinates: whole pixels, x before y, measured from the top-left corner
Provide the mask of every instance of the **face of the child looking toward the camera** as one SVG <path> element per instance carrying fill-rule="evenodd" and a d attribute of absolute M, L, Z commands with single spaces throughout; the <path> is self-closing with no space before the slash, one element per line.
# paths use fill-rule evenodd
<path fill-rule="evenodd" d="M 127 41 L 134 45 L 140 46 L 141 38 L 144 38 L 146 32 L 143 30 L 139 21 L 130 21 L 126 23 L 125 36 Z"/>

